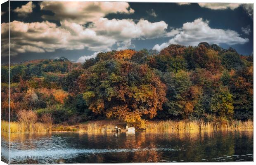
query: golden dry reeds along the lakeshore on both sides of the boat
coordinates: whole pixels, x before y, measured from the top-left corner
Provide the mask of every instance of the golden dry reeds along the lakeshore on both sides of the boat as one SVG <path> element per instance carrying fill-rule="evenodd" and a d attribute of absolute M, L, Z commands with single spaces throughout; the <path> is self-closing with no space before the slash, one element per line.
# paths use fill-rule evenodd
<path fill-rule="evenodd" d="M 232 121 L 232 122 L 203 122 L 203 121 L 147 121 L 146 132 L 181 132 L 195 130 L 247 130 L 253 129 L 253 121 Z M 43 123 L 35 123 L 29 127 L 23 123 L 11 122 L 10 132 L 88 132 L 100 133 L 102 128 L 118 126 L 125 128 L 126 123 L 121 123 L 118 120 L 100 120 L 88 123 L 80 123 L 78 125 L 52 125 L 49 126 Z M 1 131 L 9 132 L 8 122 L 1 121 Z"/>

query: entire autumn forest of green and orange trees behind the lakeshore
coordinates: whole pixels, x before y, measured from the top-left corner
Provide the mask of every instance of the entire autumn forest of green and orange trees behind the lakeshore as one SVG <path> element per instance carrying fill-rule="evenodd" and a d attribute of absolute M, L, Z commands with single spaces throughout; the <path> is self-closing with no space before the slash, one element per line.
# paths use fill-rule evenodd
<path fill-rule="evenodd" d="M 12 122 L 76 125 L 119 120 L 230 122 L 253 119 L 253 57 L 201 42 L 156 50 L 100 52 L 1 66 L 1 116 Z"/>

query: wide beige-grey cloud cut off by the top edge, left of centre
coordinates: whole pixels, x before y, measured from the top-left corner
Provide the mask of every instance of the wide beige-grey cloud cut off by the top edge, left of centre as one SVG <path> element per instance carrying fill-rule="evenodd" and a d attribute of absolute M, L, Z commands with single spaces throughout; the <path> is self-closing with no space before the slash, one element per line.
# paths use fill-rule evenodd
<path fill-rule="evenodd" d="M 97 21 L 110 13 L 134 13 L 128 2 L 75 2 L 75 1 L 43 1 L 40 9 L 54 13 L 43 15 L 43 19 L 72 21 L 78 24 Z"/>

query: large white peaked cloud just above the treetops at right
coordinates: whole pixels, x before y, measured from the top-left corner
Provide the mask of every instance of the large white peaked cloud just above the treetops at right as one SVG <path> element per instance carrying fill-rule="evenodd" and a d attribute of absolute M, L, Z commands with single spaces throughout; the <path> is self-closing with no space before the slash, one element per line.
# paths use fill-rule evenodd
<path fill-rule="evenodd" d="M 209 21 L 199 18 L 193 22 L 183 24 L 178 34 L 168 42 L 164 42 L 161 45 L 156 44 L 153 49 L 160 51 L 170 44 L 196 46 L 200 42 L 209 42 L 210 44 L 225 43 L 235 45 L 244 44 L 248 41 L 248 38 L 241 38 L 236 31 L 211 28 L 209 27 Z"/>

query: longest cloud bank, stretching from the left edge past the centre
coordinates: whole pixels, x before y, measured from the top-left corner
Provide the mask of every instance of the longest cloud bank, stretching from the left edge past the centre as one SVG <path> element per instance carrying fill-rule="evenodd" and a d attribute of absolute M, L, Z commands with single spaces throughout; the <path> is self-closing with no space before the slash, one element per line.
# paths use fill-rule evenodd
<path fill-rule="evenodd" d="M 156 38 L 166 33 L 164 21 L 151 23 L 141 19 L 137 23 L 130 19 L 101 18 L 91 27 L 69 21 L 61 21 L 60 26 L 49 21 L 10 23 L 11 55 L 25 52 L 54 52 L 57 49 L 92 51 L 109 50 L 118 44 L 119 49 L 133 47 L 131 39 Z M 7 23 L 1 24 L 2 54 L 8 55 Z"/>

